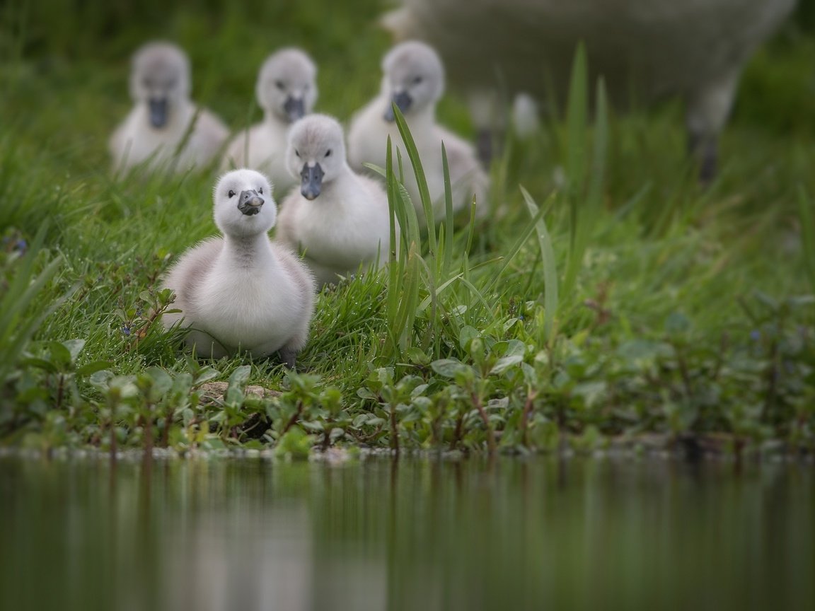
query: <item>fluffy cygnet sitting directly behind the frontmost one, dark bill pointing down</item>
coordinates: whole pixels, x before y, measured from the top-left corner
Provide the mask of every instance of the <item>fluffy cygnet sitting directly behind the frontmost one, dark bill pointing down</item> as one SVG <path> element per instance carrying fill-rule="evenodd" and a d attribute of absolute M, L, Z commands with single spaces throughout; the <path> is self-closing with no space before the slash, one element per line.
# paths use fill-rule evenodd
<path fill-rule="evenodd" d="M 283 202 L 276 239 L 305 253 L 322 284 L 337 282 L 360 264 L 388 261 L 390 215 L 379 182 L 346 163 L 342 128 L 330 116 L 311 115 L 289 132 L 289 171 L 301 177 Z"/>

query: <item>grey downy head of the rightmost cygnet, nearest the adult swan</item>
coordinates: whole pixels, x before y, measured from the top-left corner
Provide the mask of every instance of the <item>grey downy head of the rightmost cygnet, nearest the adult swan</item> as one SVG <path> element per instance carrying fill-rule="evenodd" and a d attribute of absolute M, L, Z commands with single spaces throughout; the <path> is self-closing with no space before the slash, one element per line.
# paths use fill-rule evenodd
<path fill-rule="evenodd" d="M 394 46 L 382 59 L 382 90 L 388 95 L 385 121 L 394 121 L 390 103 L 404 115 L 434 105 L 444 93 L 444 66 L 433 47 L 408 41 Z"/>

